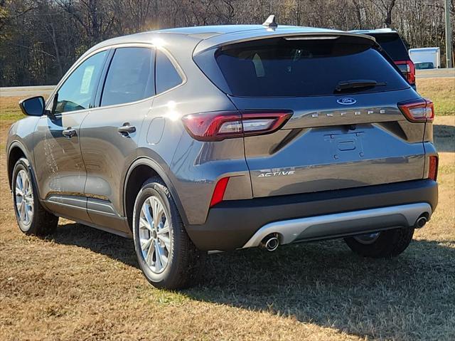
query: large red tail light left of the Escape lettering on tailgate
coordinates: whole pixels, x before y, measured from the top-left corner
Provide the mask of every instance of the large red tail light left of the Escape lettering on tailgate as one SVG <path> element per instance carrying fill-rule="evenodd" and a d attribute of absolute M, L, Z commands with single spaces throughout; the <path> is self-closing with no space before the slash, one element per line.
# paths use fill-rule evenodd
<path fill-rule="evenodd" d="M 279 130 L 292 112 L 203 112 L 182 117 L 188 133 L 198 141 L 222 141 L 234 137 L 264 135 Z"/>

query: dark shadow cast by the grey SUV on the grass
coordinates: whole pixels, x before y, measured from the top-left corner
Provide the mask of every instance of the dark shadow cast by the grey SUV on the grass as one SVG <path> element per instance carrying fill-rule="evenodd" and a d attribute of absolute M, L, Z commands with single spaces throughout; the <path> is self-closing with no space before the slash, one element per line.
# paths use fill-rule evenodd
<path fill-rule="evenodd" d="M 79 224 L 56 243 L 77 245 L 137 267 L 132 241 Z M 455 241 L 412 241 L 397 258 L 356 256 L 343 241 L 208 256 L 193 300 L 267 311 L 350 335 L 397 340 L 455 337 Z"/>

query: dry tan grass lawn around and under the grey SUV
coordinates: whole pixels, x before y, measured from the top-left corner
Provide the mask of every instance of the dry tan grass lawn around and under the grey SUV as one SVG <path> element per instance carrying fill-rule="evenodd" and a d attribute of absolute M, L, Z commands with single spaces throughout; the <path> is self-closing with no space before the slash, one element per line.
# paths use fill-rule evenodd
<path fill-rule="evenodd" d="M 223 253 L 200 286 L 168 292 L 146 282 L 131 240 L 63 220 L 46 239 L 18 231 L 4 155 L 17 100 L 0 98 L 0 340 L 455 340 L 454 115 L 434 126 L 439 206 L 400 257 L 343 241 Z"/>

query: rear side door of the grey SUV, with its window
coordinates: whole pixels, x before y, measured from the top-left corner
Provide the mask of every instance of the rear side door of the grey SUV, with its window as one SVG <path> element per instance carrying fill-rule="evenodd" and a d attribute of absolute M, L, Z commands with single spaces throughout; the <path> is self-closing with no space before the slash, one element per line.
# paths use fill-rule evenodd
<path fill-rule="evenodd" d="M 153 102 L 154 59 L 151 45 L 117 47 L 100 83 L 99 107 L 90 111 L 80 129 L 90 219 L 127 234 L 123 176 L 136 157 L 142 122 Z"/>

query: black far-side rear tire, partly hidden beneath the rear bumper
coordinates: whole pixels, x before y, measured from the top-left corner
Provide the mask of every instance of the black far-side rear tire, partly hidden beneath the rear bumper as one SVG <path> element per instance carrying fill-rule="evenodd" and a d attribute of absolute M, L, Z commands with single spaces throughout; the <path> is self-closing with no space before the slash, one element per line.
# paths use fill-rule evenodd
<path fill-rule="evenodd" d="M 406 250 L 412 241 L 414 228 L 393 229 L 380 232 L 373 243 L 360 243 L 355 237 L 344 238 L 349 248 L 360 256 L 392 258 Z"/>

